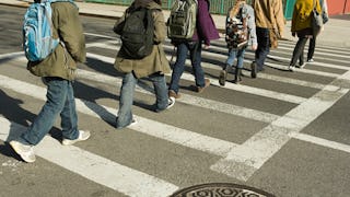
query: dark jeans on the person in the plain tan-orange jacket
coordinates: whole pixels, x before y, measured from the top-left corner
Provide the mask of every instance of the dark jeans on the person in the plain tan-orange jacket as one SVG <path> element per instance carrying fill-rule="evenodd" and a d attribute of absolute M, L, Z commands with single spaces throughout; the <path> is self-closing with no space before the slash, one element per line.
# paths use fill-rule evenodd
<path fill-rule="evenodd" d="M 269 30 L 256 27 L 258 48 L 255 50 L 255 62 L 258 70 L 262 70 L 267 55 L 270 53 Z"/>

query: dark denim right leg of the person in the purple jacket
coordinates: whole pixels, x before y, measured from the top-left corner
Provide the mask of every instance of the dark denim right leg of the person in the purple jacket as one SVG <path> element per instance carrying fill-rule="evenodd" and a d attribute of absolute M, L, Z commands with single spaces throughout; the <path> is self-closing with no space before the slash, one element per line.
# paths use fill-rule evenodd
<path fill-rule="evenodd" d="M 205 71 L 201 68 L 201 42 L 189 45 L 190 62 L 196 79 L 197 86 L 205 86 Z"/>

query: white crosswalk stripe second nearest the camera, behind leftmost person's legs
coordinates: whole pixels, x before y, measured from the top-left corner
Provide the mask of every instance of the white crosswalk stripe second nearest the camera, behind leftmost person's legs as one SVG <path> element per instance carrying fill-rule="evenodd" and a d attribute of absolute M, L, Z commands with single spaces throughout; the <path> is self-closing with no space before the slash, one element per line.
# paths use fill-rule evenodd
<path fill-rule="evenodd" d="M 38 100 L 46 100 L 46 89 L 36 86 L 26 82 L 22 82 L 9 77 L 0 74 L 0 86 L 10 89 L 21 94 L 25 94 Z M 93 117 L 101 118 L 107 123 L 114 123 L 118 111 L 104 105 L 97 105 L 93 102 L 75 99 L 77 111 Z M 138 124 L 128 128 L 138 132 L 153 136 L 174 142 L 179 146 L 185 146 L 203 152 L 209 152 L 215 155 L 225 157 L 236 143 L 203 136 L 190 130 L 182 129 L 163 123 L 147 119 L 135 115 Z"/>

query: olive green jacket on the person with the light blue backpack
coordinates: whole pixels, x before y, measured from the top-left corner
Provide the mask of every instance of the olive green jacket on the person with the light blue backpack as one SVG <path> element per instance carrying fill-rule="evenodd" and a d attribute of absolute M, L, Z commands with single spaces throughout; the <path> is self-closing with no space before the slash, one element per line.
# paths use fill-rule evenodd
<path fill-rule="evenodd" d="M 28 61 L 27 69 L 38 77 L 74 79 L 77 62 L 85 62 L 85 37 L 78 8 L 70 2 L 55 2 L 52 8 L 54 37 L 62 44 L 39 62 Z M 65 45 L 65 47 L 63 47 Z"/>

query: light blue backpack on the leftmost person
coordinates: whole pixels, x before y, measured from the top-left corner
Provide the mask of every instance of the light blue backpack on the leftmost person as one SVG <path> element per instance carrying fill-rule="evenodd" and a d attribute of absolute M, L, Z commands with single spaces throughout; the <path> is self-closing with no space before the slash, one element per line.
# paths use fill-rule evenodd
<path fill-rule="evenodd" d="M 31 4 L 24 15 L 23 49 L 30 61 L 45 59 L 59 44 L 59 38 L 52 37 L 55 30 L 51 10 L 51 3 L 58 1 L 67 1 L 75 5 L 72 0 L 42 0 L 40 3 Z"/>

